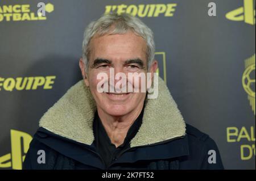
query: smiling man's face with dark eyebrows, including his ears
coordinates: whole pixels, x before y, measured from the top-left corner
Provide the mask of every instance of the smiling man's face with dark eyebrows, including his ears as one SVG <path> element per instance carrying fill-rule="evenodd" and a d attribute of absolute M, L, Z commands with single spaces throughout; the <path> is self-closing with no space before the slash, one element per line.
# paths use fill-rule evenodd
<path fill-rule="evenodd" d="M 101 79 L 97 79 L 99 73 L 108 74 L 108 86 L 115 86 L 121 79 L 114 79 L 114 85 L 110 82 L 110 68 L 117 73 L 147 73 L 146 42 L 140 36 L 129 31 L 121 35 L 94 36 L 90 40 L 90 57 L 88 71 L 85 73 L 82 60 L 80 68 L 85 75 L 85 84 L 89 86 L 97 108 L 112 116 L 123 116 L 143 106 L 146 92 L 99 92 L 97 85 Z M 156 62 L 154 62 L 156 64 Z M 157 65 L 150 71 L 154 72 Z M 131 83 L 134 89 L 134 81 L 127 79 L 127 85 Z M 141 83 L 141 81 L 139 81 Z M 141 84 L 139 85 L 141 87 Z M 116 94 L 117 93 L 117 94 Z"/>

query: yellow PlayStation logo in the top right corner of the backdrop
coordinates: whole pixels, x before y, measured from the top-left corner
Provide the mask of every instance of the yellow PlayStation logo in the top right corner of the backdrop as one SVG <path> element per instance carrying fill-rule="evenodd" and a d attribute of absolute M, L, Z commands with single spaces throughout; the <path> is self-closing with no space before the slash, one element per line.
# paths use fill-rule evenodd
<path fill-rule="evenodd" d="M 243 7 L 230 11 L 226 18 L 233 21 L 244 21 L 247 24 L 255 24 L 255 0 L 243 0 Z"/>

